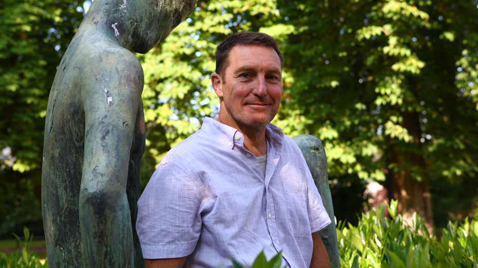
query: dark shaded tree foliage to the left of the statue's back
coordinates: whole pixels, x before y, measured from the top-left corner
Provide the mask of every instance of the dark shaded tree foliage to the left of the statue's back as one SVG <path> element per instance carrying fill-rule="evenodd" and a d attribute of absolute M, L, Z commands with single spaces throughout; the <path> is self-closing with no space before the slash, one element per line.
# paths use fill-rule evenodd
<path fill-rule="evenodd" d="M 41 195 L 48 93 L 82 12 L 80 3 L 69 1 L 0 3 L 0 176 L 4 178 L 0 235 L 10 233 L 15 225 L 41 224 L 39 203 L 38 211 L 26 212 Z"/>

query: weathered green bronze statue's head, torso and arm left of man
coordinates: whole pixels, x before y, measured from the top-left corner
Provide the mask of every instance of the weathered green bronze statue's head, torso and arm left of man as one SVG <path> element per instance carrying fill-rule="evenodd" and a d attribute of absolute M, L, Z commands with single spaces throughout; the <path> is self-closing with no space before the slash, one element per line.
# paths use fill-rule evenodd
<path fill-rule="evenodd" d="M 195 0 L 96 0 L 48 99 L 42 213 L 51 267 L 143 266 L 136 236 L 146 53 Z"/>

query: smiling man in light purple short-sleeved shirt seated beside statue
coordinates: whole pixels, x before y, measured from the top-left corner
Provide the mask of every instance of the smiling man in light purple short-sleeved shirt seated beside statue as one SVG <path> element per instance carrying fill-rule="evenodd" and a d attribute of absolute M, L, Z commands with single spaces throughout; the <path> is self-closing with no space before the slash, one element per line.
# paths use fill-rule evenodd
<path fill-rule="evenodd" d="M 282 54 L 263 33 L 216 51 L 217 119 L 159 164 L 138 201 L 146 266 L 251 266 L 264 251 L 283 265 L 328 266 L 317 231 L 330 223 L 302 154 L 269 122 L 282 94 Z"/>

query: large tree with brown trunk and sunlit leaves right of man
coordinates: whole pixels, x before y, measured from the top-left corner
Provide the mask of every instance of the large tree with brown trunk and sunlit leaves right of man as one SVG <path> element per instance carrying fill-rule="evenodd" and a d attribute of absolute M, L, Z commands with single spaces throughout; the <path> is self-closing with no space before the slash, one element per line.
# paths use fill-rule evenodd
<path fill-rule="evenodd" d="M 331 177 L 387 179 L 399 210 L 409 219 L 417 212 L 429 228 L 430 181 L 478 171 L 476 57 L 468 55 L 478 45 L 475 5 L 287 1 L 281 8 L 295 27 L 284 53 L 293 77 L 284 102 L 301 111 L 286 109 L 284 124 L 295 120 L 322 139 Z"/>

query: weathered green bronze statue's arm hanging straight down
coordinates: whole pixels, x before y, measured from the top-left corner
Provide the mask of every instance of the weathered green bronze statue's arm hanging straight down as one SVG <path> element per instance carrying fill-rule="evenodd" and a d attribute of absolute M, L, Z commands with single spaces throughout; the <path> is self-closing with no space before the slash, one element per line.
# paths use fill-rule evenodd
<path fill-rule="evenodd" d="M 129 52 L 128 52 L 129 53 Z M 82 96 L 85 145 L 80 229 L 87 266 L 134 266 L 126 196 L 128 162 L 143 73 L 132 53 L 101 55 Z M 95 70 L 96 69 L 96 70 Z"/>

